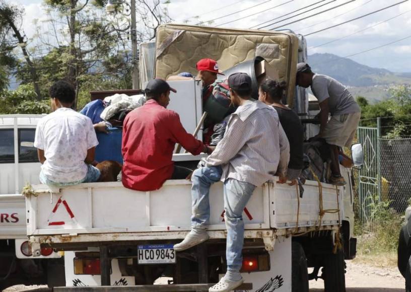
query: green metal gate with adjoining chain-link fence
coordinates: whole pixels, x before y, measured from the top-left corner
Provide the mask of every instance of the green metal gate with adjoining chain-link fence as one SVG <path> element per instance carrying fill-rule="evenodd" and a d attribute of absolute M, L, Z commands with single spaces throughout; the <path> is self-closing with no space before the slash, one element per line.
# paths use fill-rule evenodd
<path fill-rule="evenodd" d="M 359 127 L 364 166 L 356 172 L 357 215 L 363 227 L 373 229 L 381 204 L 403 213 L 411 198 L 411 137 L 381 137 L 377 127 Z"/>

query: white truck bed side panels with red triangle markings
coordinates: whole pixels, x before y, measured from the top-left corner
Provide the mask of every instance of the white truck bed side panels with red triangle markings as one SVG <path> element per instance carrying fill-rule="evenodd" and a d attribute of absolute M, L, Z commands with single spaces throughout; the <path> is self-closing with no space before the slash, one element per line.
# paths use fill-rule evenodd
<path fill-rule="evenodd" d="M 35 195 L 26 199 L 27 234 L 34 245 L 183 238 L 190 229 L 190 188 L 186 180 L 169 180 L 161 189 L 150 192 L 129 190 L 120 182 L 63 188 L 34 185 Z M 318 226 L 337 229 L 343 210 L 325 213 L 319 222 L 317 182 L 307 181 L 303 197 L 298 200 L 298 196 L 295 186 L 277 182 L 256 188 L 243 213 L 245 237 L 263 238 L 273 244 L 277 236 L 295 231 L 298 201 L 299 232 Z M 323 209 L 343 206 L 343 196 L 343 188 L 322 184 Z M 210 236 L 225 238 L 221 182 L 210 190 L 210 205 Z"/>

